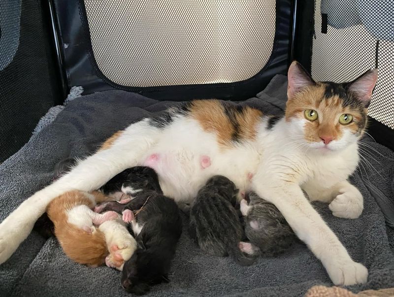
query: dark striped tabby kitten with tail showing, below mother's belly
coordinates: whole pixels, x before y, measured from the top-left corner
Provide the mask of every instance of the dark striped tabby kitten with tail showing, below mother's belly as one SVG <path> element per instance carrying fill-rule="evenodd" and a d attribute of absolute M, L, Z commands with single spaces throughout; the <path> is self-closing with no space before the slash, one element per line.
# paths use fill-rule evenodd
<path fill-rule="evenodd" d="M 237 193 L 234 183 L 227 177 L 210 178 L 191 206 L 189 233 L 206 254 L 230 255 L 238 264 L 250 265 L 253 259 L 238 248 L 243 230 L 234 208 Z"/>

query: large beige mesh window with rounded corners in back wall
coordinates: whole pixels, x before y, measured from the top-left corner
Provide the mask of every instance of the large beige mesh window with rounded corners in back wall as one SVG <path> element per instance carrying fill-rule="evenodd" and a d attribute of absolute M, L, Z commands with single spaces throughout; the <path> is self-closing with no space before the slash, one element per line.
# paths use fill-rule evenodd
<path fill-rule="evenodd" d="M 85 0 L 101 72 L 129 87 L 227 83 L 268 61 L 275 0 Z"/>

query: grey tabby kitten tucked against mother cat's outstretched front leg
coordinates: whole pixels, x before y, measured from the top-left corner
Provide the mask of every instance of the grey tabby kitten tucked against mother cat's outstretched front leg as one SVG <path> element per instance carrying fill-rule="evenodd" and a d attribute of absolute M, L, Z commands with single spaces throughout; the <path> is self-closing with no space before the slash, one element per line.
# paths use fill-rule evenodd
<path fill-rule="evenodd" d="M 242 199 L 240 209 L 250 243 L 240 242 L 241 251 L 266 257 L 283 253 L 297 239 L 293 230 L 275 205 L 254 192 L 248 196 L 249 205 L 246 199 Z"/>

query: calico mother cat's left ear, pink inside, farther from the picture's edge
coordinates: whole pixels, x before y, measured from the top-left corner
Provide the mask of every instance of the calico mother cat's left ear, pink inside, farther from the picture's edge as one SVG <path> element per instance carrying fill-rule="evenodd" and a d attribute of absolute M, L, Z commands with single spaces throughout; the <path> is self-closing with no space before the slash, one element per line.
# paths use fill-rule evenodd
<path fill-rule="evenodd" d="M 294 96 L 304 90 L 307 87 L 315 85 L 312 77 L 306 72 L 306 70 L 299 64 L 294 61 L 292 65 L 289 67 L 289 71 L 287 72 L 287 98 L 292 99 Z"/>

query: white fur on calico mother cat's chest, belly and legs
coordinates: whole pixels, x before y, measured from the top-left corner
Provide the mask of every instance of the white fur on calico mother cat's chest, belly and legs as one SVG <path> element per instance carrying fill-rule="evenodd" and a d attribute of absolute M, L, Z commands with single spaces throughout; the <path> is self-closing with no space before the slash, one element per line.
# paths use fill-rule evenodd
<path fill-rule="evenodd" d="M 0 263 L 27 237 L 34 221 L 54 197 L 70 188 L 99 188 L 120 171 L 142 165 L 150 155 L 158 153 L 168 158 L 162 165 L 159 162 L 157 168 L 165 195 L 178 202 L 192 201 L 209 177 L 224 175 L 240 192 L 251 189 L 274 203 L 298 237 L 322 261 L 335 285 L 365 282 L 367 269 L 350 258 L 301 190 L 302 187 L 312 199 L 334 198 L 330 204 L 334 215 L 357 217 L 362 210 L 362 197 L 347 182 L 358 164 L 357 143 L 345 139 L 344 133 L 342 139 L 322 149 L 319 143 L 302 141 L 303 125 L 301 119 L 293 123 L 283 119 L 267 131 L 266 122 L 262 121 L 256 141 L 223 148 L 215 134 L 204 132 L 195 120 L 183 116 L 164 130 L 150 127 L 147 120 L 133 124 L 111 148 L 82 161 L 57 182 L 24 201 L 1 223 Z M 212 161 L 203 170 L 202 155 Z M 248 173 L 253 174 L 252 183 Z"/>

